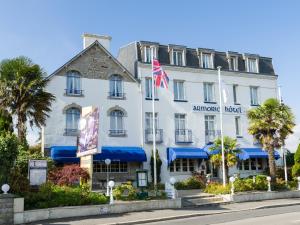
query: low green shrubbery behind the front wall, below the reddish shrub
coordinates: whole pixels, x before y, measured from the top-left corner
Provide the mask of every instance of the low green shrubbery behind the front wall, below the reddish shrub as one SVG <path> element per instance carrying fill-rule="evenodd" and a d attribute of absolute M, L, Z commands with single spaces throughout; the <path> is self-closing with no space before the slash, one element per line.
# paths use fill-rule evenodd
<path fill-rule="evenodd" d="M 41 185 L 38 192 L 30 192 L 25 196 L 25 209 L 94 205 L 107 202 L 106 196 L 90 192 L 86 185 L 69 187 L 46 183 Z"/>

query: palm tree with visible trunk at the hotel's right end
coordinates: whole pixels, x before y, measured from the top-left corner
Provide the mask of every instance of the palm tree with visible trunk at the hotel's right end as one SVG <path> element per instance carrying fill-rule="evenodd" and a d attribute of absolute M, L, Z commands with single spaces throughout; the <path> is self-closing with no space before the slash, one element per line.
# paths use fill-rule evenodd
<path fill-rule="evenodd" d="M 291 109 L 277 99 L 270 98 L 261 106 L 248 111 L 248 131 L 268 152 L 269 169 L 275 182 L 276 165 L 274 150 L 284 145 L 289 134 L 293 133 L 294 115 Z"/>

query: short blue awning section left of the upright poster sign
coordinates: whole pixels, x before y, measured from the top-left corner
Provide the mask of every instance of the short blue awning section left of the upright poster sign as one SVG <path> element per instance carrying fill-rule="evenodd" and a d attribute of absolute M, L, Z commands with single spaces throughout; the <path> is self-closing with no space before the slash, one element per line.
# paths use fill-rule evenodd
<path fill-rule="evenodd" d="M 76 157 L 77 146 L 52 146 L 51 158 L 58 163 L 79 163 Z"/>

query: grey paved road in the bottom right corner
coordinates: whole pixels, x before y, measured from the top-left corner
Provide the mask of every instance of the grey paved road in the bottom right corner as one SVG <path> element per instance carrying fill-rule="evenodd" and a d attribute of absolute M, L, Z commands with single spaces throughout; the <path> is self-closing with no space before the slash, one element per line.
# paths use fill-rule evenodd
<path fill-rule="evenodd" d="M 168 220 L 147 225 L 296 225 L 300 224 L 300 206 L 249 210 L 218 215 Z"/>

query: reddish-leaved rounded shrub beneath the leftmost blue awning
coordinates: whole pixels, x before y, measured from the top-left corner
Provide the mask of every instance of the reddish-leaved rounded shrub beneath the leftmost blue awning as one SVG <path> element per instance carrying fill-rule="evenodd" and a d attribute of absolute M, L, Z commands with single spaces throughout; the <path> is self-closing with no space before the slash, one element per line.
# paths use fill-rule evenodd
<path fill-rule="evenodd" d="M 48 175 L 49 181 L 60 186 L 79 184 L 80 181 L 86 183 L 89 179 L 90 175 L 87 170 L 77 164 L 56 168 Z"/>

